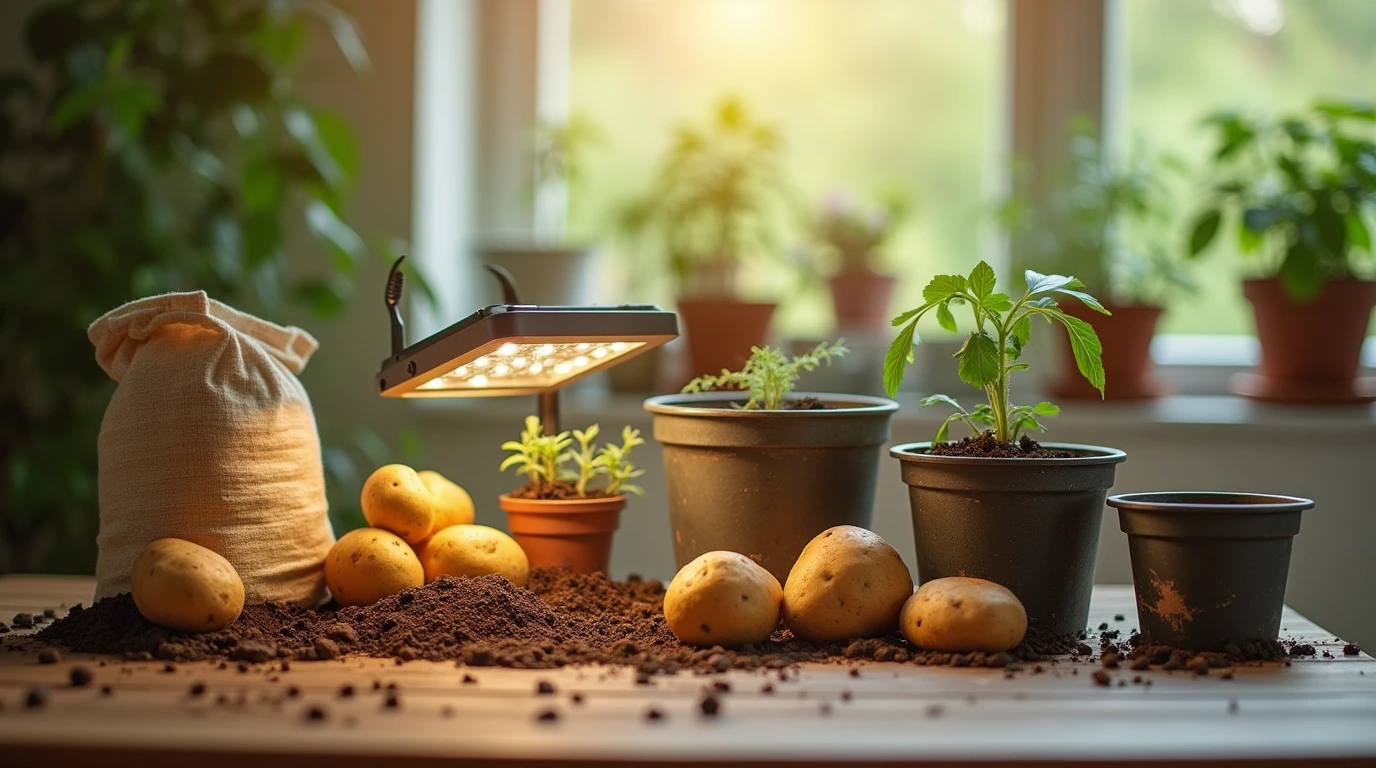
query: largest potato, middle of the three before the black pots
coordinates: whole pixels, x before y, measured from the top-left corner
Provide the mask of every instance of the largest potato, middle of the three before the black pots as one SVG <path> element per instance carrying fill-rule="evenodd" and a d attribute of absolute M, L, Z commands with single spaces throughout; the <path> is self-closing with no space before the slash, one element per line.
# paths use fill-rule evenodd
<path fill-rule="evenodd" d="M 912 575 L 874 531 L 837 526 L 802 548 L 783 588 L 783 621 L 813 643 L 878 637 L 899 628 Z"/>

